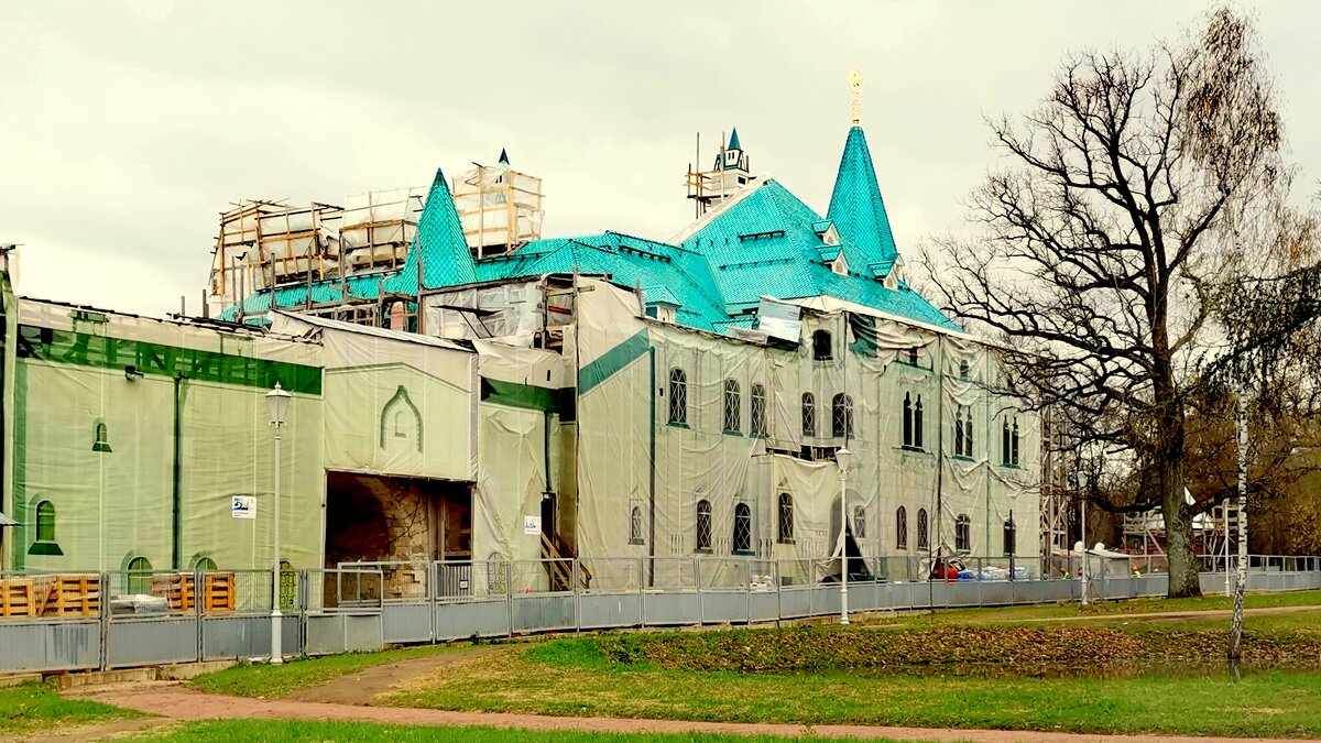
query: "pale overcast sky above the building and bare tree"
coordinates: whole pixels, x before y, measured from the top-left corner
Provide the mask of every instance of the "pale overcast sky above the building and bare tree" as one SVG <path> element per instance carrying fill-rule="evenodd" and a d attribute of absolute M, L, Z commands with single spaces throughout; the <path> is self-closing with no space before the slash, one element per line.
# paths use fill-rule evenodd
<path fill-rule="evenodd" d="M 1246 4 L 1303 186 L 1321 176 L 1321 4 Z M 824 212 L 851 66 L 900 250 L 960 229 L 1061 57 L 1177 37 L 1202 1 L 0 4 L 0 243 L 20 292 L 197 312 L 219 212 L 429 184 L 509 148 L 543 234 L 664 239 L 694 135 Z"/>

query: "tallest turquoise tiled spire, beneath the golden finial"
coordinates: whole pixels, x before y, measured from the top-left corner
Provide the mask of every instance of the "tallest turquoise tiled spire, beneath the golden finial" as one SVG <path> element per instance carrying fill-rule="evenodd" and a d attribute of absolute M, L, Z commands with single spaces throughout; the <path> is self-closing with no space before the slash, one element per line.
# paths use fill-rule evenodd
<path fill-rule="evenodd" d="M 894 247 L 890 219 L 885 214 L 881 188 L 876 184 L 876 168 L 872 167 L 863 127 L 848 130 L 826 217 L 835 222 L 840 237 L 865 253 L 869 260 L 885 263 L 898 259 L 900 251 Z"/>

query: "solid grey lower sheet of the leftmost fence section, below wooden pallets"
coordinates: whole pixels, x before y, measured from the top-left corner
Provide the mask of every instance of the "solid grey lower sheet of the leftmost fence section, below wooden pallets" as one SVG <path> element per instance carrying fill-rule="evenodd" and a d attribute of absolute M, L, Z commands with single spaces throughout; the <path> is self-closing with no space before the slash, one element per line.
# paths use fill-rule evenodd
<path fill-rule="evenodd" d="M 0 623 L 0 673 L 99 666 L 99 620 Z"/>

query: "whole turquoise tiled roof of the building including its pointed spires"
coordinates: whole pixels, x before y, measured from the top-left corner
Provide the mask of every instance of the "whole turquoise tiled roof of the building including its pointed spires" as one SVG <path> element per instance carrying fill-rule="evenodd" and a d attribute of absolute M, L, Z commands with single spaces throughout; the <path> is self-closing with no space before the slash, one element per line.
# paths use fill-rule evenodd
<path fill-rule="evenodd" d="M 737 135 L 731 147 L 737 147 Z M 378 287 L 390 292 L 417 291 L 419 260 L 423 287 L 439 290 L 470 283 L 531 279 L 544 274 L 604 274 L 618 284 L 642 288 L 650 301 L 678 305 L 675 320 L 704 331 L 750 327 L 746 309 L 760 297 L 806 299 L 834 296 L 922 323 L 958 329 L 945 315 L 902 282 L 885 288 L 884 279 L 898 251 L 890 235 L 885 205 L 863 131 L 848 132 L 835 181 L 830 215 L 822 218 L 774 180 L 748 186 L 709 215 L 680 245 L 605 231 L 573 238 L 547 238 L 510 255 L 474 260 L 444 173 L 436 171 L 417 223 L 417 237 L 398 271 L 351 276 L 350 296 L 373 299 Z M 822 233 L 834 222 L 838 246 L 826 246 Z M 848 274 L 826 263 L 843 253 Z M 336 301 L 338 279 L 263 292 L 247 297 L 247 312 L 297 307 L 306 301 Z M 230 311 L 232 316 L 232 309 Z"/>

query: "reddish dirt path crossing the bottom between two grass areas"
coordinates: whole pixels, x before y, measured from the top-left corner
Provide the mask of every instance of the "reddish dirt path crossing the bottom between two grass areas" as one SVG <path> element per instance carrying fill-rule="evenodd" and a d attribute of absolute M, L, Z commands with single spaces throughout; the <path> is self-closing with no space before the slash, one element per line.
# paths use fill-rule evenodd
<path fill-rule="evenodd" d="M 373 722 L 423 726 L 490 726 L 523 730 L 579 730 L 597 732 L 725 732 L 734 735 L 786 735 L 808 732 L 801 724 L 752 724 L 684 722 L 664 719 L 565 718 L 503 713 L 452 713 L 412 707 L 367 707 L 292 699 L 250 699 L 203 694 L 173 682 L 132 686 L 103 686 L 79 690 L 78 697 L 161 715 L 170 721 L 189 719 L 312 719 Z M 83 731 L 85 738 L 92 731 Z M 1024 732 L 1011 730 L 938 730 L 918 727 L 872 727 L 822 724 L 810 732 L 823 738 L 896 738 L 901 740 L 971 740 L 975 743 L 1297 743 L 1267 738 L 1193 738 L 1170 735 L 1075 735 L 1065 732 Z"/>

